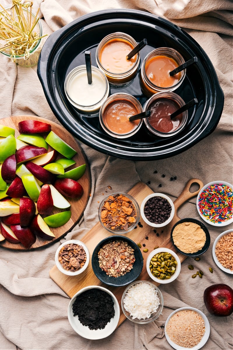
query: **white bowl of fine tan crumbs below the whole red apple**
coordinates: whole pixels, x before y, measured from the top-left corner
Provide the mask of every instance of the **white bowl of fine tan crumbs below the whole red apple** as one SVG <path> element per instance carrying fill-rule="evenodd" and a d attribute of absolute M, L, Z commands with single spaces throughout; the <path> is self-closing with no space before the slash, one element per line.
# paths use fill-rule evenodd
<path fill-rule="evenodd" d="M 210 336 L 210 323 L 202 311 L 193 307 L 182 307 L 168 316 L 165 336 L 176 350 L 198 350 Z"/>

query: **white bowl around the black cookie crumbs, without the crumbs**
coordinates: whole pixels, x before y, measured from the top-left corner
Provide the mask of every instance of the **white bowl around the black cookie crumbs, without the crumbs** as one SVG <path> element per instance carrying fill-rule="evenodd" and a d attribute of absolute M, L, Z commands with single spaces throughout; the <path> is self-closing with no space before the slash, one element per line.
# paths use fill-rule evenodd
<path fill-rule="evenodd" d="M 109 295 L 111 295 L 113 301 L 114 301 L 114 310 L 115 310 L 115 316 L 113 318 L 111 318 L 110 322 L 107 323 L 107 325 L 105 326 L 105 328 L 103 329 L 89 329 L 87 326 L 84 326 L 80 321 L 78 316 L 74 316 L 73 315 L 73 303 L 77 297 L 77 295 L 85 292 L 88 289 L 101 289 L 104 292 L 108 293 Z M 82 336 L 83 338 L 86 339 L 103 339 L 105 337 L 108 337 L 110 334 L 112 334 L 112 332 L 116 329 L 117 324 L 119 322 L 119 318 L 120 318 L 120 307 L 119 307 L 119 303 L 115 297 L 115 295 L 110 292 L 110 290 L 108 290 L 107 288 L 101 287 L 101 286 L 88 286 L 85 288 L 80 289 L 71 299 L 69 305 L 68 305 L 68 320 L 71 324 L 71 327 L 75 330 L 76 333 L 78 333 L 80 336 Z"/>

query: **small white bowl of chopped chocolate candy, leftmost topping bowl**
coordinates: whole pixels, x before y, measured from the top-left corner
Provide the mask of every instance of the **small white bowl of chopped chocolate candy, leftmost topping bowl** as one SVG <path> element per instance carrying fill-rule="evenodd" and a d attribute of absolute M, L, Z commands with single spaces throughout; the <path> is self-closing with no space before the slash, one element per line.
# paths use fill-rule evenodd
<path fill-rule="evenodd" d="M 55 253 L 56 266 L 65 275 L 79 275 L 87 268 L 90 253 L 87 246 L 77 240 L 71 239 L 62 243 Z"/>

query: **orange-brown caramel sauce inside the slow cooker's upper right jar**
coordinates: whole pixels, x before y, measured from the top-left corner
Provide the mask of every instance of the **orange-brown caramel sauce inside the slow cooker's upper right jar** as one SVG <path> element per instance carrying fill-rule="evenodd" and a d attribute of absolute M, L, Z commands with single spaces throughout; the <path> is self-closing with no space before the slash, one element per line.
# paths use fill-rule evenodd
<path fill-rule="evenodd" d="M 170 87 L 177 84 L 181 73 L 170 76 L 169 72 L 177 68 L 177 62 L 168 56 L 154 56 L 145 63 L 145 72 L 148 79 L 156 86 Z"/>

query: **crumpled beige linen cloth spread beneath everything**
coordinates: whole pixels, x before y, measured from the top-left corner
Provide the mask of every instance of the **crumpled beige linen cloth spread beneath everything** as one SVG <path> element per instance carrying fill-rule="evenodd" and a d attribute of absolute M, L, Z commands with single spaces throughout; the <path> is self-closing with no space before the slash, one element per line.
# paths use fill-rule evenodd
<path fill-rule="evenodd" d="M 11 4 L 1 0 L 3 6 Z M 129 191 L 138 181 L 170 195 L 180 195 L 185 183 L 198 178 L 203 183 L 232 179 L 232 1 L 230 0 L 42 0 L 40 16 L 45 33 L 52 33 L 79 16 L 102 9 L 130 8 L 162 16 L 189 33 L 206 51 L 225 94 L 223 114 L 216 130 L 197 145 L 172 158 L 150 162 L 116 159 L 81 144 L 89 160 L 92 196 L 79 224 L 67 239 L 81 238 L 98 221 L 97 202 L 110 184 L 113 191 Z M 37 7 L 34 1 L 34 7 Z M 45 99 L 36 67 L 16 66 L 0 55 L 0 118 L 28 114 L 57 121 Z M 58 122 L 58 121 L 57 121 Z M 154 174 L 157 170 L 158 173 Z M 162 177 L 165 174 L 166 177 Z M 171 182 L 170 177 L 177 176 Z M 158 185 L 162 184 L 162 188 Z M 195 198 L 185 203 L 179 216 L 198 218 Z M 70 299 L 49 277 L 59 242 L 46 249 L 14 252 L 0 248 L 0 349 L 172 349 L 164 335 L 168 315 L 183 306 L 203 311 L 210 322 L 205 350 L 232 349 L 232 316 L 215 317 L 203 302 L 204 289 L 213 283 L 232 286 L 212 258 L 214 239 L 223 231 L 208 225 L 209 250 L 197 264 L 182 263 L 179 277 L 161 285 L 164 308 L 158 320 L 137 325 L 125 320 L 109 337 L 89 341 L 77 335 L 67 319 Z M 229 225 L 225 229 L 230 229 Z M 224 229 L 224 230 L 225 230 Z M 64 241 L 64 239 L 61 239 Z M 192 279 L 189 264 L 205 271 Z M 209 266 L 213 274 L 208 273 Z"/>

